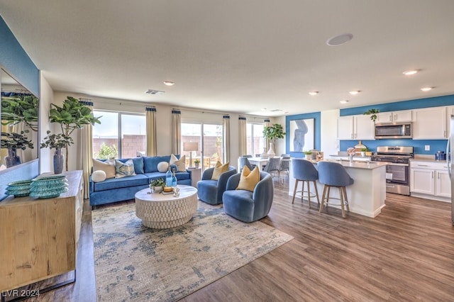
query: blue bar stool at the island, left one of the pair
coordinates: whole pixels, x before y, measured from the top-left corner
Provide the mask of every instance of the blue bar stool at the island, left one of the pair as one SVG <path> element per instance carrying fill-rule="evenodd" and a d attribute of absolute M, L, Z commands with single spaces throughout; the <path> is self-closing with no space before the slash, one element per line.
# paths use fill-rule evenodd
<path fill-rule="evenodd" d="M 317 190 L 317 184 L 316 180 L 319 179 L 319 172 L 317 172 L 317 169 L 314 167 L 314 164 L 309 162 L 308 160 L 303 160 L 299 158 L 294 158 L 292 160 L 292 174 L 295 179 L 295 187 L 293 190 L 293 199 L 292 203 L 295 201 L 295 195 L 297 193 L 301 193 L 301 201 L 303 200 L 304 197 L 304 192 L 307 193 L 307 200 L 309 201 L 309 208 L 311 208 L 311 197 L 317 197 L 317 203 L 320 204 L 319 200 L 319 191 Z M 297 191 L 298 183 L 299 181 L 303 181 L 303 185 L 301 187 L 301 191 Z M 314 183 L 314 188 L 315 188 L 315 194 L 311 193 L 310 189 L 310 182 L 312 181 Z M 307 184 L 307 191 L 304 191 L 304 183 L 306 182 Z"/>

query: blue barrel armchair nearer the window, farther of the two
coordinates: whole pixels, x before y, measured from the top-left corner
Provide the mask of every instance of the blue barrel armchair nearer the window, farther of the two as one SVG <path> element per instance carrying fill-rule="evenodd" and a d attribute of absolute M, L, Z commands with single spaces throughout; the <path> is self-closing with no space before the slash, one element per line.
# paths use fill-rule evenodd
<path fill-rule="evenodd" d="M 222 194 L 226 191 L 228 177 L 236 174 L 236 167 L 229 166 L 228 171 L 223 172 L 218 180 L 213 180 L 214 168 L 204 171 L 201 180 L 197 182 L 197 194 L 199 199 L 204 203 L 218 204 L 222 203 Z"/>

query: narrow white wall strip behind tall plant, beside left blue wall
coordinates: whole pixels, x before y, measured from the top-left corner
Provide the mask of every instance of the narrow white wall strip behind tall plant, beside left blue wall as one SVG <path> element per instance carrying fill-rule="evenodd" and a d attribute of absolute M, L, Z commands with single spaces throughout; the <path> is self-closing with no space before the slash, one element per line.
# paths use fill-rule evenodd
<path fill-rule="evenodd" d="M 54 100 L 54 91 L 50 87 L 48 81 L 43 77 L 43 74 L 40 72 L 40 138 L 38 139 L 39 142 L 42 142 L 45 136 L 47 135 L 47 131 L 50 129 L 49 121 L 49 109 L 50 103 L 53 103 Z M 52 172 L 52 159 L 55 150 L 50 150 L 49 148 L 40 149 L 39 152 L 39 169 L 40 173 L 45 172 Z"/>

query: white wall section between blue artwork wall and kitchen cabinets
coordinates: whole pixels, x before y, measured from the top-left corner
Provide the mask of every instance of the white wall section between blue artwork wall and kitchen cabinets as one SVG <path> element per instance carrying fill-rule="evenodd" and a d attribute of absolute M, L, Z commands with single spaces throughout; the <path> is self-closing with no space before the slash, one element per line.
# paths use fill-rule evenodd
<path fill-rule="evenodd" d="M 337 155 L 339 151 L 339 140 L 337 139 L 339 109 L 321 111 L 320 149 L 323 156 Z"/>

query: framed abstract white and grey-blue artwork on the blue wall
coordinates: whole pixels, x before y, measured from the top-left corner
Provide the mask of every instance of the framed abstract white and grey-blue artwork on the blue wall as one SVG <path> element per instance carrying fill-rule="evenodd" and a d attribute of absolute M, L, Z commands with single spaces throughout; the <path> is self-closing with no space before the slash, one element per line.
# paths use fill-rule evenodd
<path fill-rule="evenodd" d="M 314 149 L 314 118 L 290 121 L 289 135 L 291 152 Z"/>

